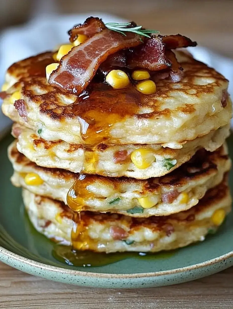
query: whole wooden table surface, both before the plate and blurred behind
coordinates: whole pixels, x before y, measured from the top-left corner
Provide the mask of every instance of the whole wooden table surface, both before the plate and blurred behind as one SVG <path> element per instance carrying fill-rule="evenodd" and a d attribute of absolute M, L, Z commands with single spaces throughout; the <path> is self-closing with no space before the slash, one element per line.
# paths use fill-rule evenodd
<path fill-rule="evenodd" d="M 162 33 L 182 33 L 226 56 L 233 51 L 233 1 L 58 0 L 64 13 L 105 11 Z M 74 5 L 74 2 L 76 3 Z M 232 241 L 232 240 L 231 240 Z M 0 263 L 0 308 L 233 308 L 233 268 L 175 286 L 101 290 L 64 285 Z"/>

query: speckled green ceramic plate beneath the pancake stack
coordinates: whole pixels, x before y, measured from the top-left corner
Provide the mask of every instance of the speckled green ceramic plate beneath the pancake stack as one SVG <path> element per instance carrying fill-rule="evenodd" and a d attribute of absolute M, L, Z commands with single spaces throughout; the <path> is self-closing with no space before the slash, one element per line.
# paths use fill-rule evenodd
<path fill-rule="evenodd" d="M 74 267 L 52 255 L 54 244 L 37 233 L 24 213 L 21 189 L 10 183 L 11 163 L 6 148 L 11 136 L 0 142 L 0 260 L 26 273 L 50 280 L 105 288 L 163 286 L 201 278 L 233 265 L 233 214 L 215 235 L 204 242 L 170 254 L 130 257 L 99 267 Z M 233 137 L 229 138 L 233 158 Z M 233 173 L 230 175 L 231 188 Z M 119 258 L 119 256 L 118 256 Z"/>

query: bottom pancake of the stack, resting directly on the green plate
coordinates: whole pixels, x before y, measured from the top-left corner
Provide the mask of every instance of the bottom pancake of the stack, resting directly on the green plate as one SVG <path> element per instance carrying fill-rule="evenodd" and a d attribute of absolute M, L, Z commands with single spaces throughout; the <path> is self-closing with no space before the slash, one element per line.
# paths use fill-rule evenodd
<path fill-rule="evenodd" d="M 96 252 L 158 252 L 203 241 L 216 231 L 231 210 L 224 180 L 207 191 L 191 209 L 170 216 L 133 218 L 92 212 L 74 214 L 63 202 L 23 189 L 29 218 L 37 231 L 74 249 Z M 76 231 L 72 231 L 72 229 Z M 72 239 L 71 239 L 72 236 Z"/>

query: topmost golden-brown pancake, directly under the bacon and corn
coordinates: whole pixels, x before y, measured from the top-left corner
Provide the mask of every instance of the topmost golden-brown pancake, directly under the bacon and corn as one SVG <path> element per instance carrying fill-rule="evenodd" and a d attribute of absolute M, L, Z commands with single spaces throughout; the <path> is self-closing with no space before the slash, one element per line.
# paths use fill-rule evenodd
<path fill-rule="evenodd" d="M 140 95 L 133 87 L 119 90 L 91 83 L 93 90 L 82 106 L 74 106 L 76 95 L 48 84 L 45 67 L 54 62 L 52 55 L 43 53 L 10 66 L 6 82 L 11 88 L 2 104 L 6 116 L 39 132 L 47 141 L 80 143 L 81 117 L 82 130 L 86 132 L 88 127 L 85 134 L 93 143 L 98 138 L 98 142 L 108 144 L 165 144 L 177 148 L 184 141 L 227 125 L 231 119 L 227 79 L 181 51 L 176 52 L 184 72 L 180 82 L 161 79 L 153 95 Z M 17 109 L 11 96 L 15 91 L 21 97 Z M 129 108 L 131 103 L 137 105 L 135 110 Z M 75 112 L 77 108 L 83 108 L 82 112 Z"/>

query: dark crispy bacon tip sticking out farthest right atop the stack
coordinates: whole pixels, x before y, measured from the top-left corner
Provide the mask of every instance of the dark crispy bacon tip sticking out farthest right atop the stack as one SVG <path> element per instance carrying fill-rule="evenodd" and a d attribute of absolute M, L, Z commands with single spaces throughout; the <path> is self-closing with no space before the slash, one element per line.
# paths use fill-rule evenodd
<path fill-rule="evenodd" d="M 175 49 L 175 48 L 182 48 L 188 46 L 196 46 L 197 43 L 191 41 L 187 36 L 182 36 L 181 34 L 170 35 L 170 36 L 160 36 L 162 37 L 162 41 L 165 44 L 166 49 Z"/>

